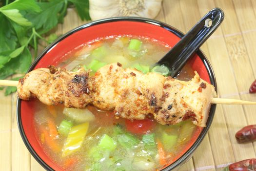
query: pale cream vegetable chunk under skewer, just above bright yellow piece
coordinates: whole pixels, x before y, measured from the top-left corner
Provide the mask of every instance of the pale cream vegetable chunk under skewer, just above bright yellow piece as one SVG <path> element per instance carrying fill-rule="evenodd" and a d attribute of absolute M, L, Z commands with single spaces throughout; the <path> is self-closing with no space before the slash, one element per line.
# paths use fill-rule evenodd
<path fill-rule="evenodd" d="M 64 107 L 63 114 L 70 117 L 74 122 L 77 123 L 90 122 L 95 119 L 94 114 L 87 108 L 79 109 Z"/>

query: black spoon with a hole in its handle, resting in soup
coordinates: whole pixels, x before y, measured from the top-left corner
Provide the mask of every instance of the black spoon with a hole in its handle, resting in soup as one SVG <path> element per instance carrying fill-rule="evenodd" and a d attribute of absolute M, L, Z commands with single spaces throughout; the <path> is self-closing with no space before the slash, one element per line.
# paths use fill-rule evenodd
<path fill-rule="evenodd" d="M 223 19 L 224 13 L 220 8 L 209 11 L 157 64 L 166 64 L 171 69 L 170 76 L 177 76 L 188 59 L 213 34 Z"/>

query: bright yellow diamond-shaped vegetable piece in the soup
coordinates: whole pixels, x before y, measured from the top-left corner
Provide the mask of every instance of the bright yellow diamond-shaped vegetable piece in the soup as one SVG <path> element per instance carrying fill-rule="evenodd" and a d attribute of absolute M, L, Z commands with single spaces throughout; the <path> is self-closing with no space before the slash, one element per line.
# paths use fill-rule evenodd
<path fill-rule="evenodd" d="M 70 129 L 62 149 L 62 157 L 72 154 L 81 147 L 88 127 L 89 123 L 86 122 L 77 126 L 73 126 Z"/>

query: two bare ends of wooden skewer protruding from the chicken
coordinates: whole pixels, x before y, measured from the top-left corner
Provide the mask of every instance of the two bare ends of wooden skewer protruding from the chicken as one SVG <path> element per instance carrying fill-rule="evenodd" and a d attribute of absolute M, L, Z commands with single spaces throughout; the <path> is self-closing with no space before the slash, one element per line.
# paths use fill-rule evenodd
<path fill-rule="evenodd" d="M 0 80 L 0 86 L 17 86 L 18 81 L 11 80 Z M 222 98 L 213 98 L 212 104 L 226 104 L 226 105 L 256 105 L 256 102 L 237 100 L 237 99 L 222 99 Z"/>

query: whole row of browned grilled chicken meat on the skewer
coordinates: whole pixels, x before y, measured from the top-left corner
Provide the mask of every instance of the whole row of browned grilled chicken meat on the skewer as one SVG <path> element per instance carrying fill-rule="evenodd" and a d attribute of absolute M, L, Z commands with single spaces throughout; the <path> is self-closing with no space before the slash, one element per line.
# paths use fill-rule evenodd
<path fill-rule="evenodd" d="M 20 80 L 18 95 L 24 100 L 37 97 L 46 105 L 83 108 L 93 104 L 114 109 L 118 117 L 127 119 L 144 119 L 151 113 L 163 125 L 191 118 L 201 127 L 208 118 L 211 99 L 217 96 L 214 86 L 200 79 L 197 72 L 185 82 L 122 68 L 119 63 L 101 67 L 93 77 L 83 68 L 76 72 L 36 69 Z"/>

